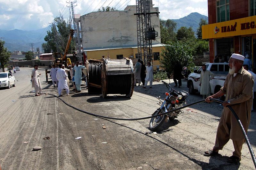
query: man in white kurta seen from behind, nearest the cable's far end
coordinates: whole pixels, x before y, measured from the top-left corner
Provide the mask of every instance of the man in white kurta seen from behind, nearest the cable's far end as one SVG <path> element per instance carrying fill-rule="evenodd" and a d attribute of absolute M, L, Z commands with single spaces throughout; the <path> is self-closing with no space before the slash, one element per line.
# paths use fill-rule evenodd
<path fill-rule="evenodd" d="M 59 93 L 59 97 L 62 96 L 61 95 L 61 91 L 62 89 L 66 89 L 67 91 L 67 95 L 69 95 L 69 88 L 68 88 L 68 84 L 67 84 L 67 77 L 68 75 L 66 74 L 66 71 L 64 69 L 62 69 L 62 65 L 59 65 L 59 68 L 57 70 L 57 79 L 59 81 L 59 85 L 58 85 L 58 93 Z"/>

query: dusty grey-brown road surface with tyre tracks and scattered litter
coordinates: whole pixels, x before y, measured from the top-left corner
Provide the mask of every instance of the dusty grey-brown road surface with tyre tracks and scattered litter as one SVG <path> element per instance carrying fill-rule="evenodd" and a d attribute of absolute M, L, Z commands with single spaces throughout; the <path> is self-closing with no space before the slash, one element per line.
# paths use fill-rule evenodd
<path fill-rule="evenodd" d="M 217 103 L 187 107 L 173 122 L 166 122 L 162 132 L 153 134 L 148 129 L 149 119 L 107 120 L 72 109 L 49 94 L 35 97 L 30 84 L 31 70 L 21 68 L 14 74 L 16 87 L 0 89 L 0 164 L 3 170 L 254 169 L 246 144 L 240 164 L 227 163 L 234 150 L 231 140 L 219 155 L 203 156 L 215 143 L 223 108 Z M 57 88 L 45 83 L 44 69 L 38 71 L 42 74 L 43 92 L 57 95 Z M 175 89 L 188 91 L 186 81 L 183 80 L 181 89 Z M 70 93 L 61 99 L 98 115 L 139 118 L 154 113 L 158 108 L 156 96 L 163 99 L 164 92 L 168 92 L 167 88 L 154 82 L 152 89 L 136 86 L 131 98 L 110 95 L 103 99 L 98 94 L 88 94 L 82 86 L 81 93 Z M 189 95 L 188 103 L 201 99 L 200 95 Z M 254 151 L 255 114 L 252 112 L 248 130 Z M 106 129 L 102 128 L 103 124 Z M 45 137 L 50 139 L 43 139 Z M 34 146 L 42 149 L 32 151 Z"/>

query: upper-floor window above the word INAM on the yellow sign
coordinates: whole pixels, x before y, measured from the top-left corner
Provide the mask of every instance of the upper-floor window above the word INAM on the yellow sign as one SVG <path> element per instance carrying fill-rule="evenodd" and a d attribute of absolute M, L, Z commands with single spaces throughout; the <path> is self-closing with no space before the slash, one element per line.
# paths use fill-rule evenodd
<path fill-rule="evenodd" d="M 229 0 L 216 1 L 217 22 L 229 21 Z"/>

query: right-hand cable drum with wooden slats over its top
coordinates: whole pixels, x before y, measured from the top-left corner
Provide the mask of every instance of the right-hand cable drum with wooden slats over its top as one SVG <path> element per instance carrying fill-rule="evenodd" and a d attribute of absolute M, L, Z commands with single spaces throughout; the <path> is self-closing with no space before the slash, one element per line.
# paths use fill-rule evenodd
<path fill-rule="evenodd" d="M 132 60 L 104 59 L 101 70 L 102 97 L 107 94 L 125 94 L 132 97 L 134 89 L 134 71 Z"/>

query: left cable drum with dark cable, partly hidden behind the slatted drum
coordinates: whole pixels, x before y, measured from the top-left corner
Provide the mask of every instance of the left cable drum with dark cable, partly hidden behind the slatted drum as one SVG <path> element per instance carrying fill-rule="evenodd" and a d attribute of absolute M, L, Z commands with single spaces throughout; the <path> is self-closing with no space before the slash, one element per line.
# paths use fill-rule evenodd
<path fill-rule="evenodd" d="M 103 60 L 87 60 L 88 93 L 101 93 L 101 68 Z"/>

